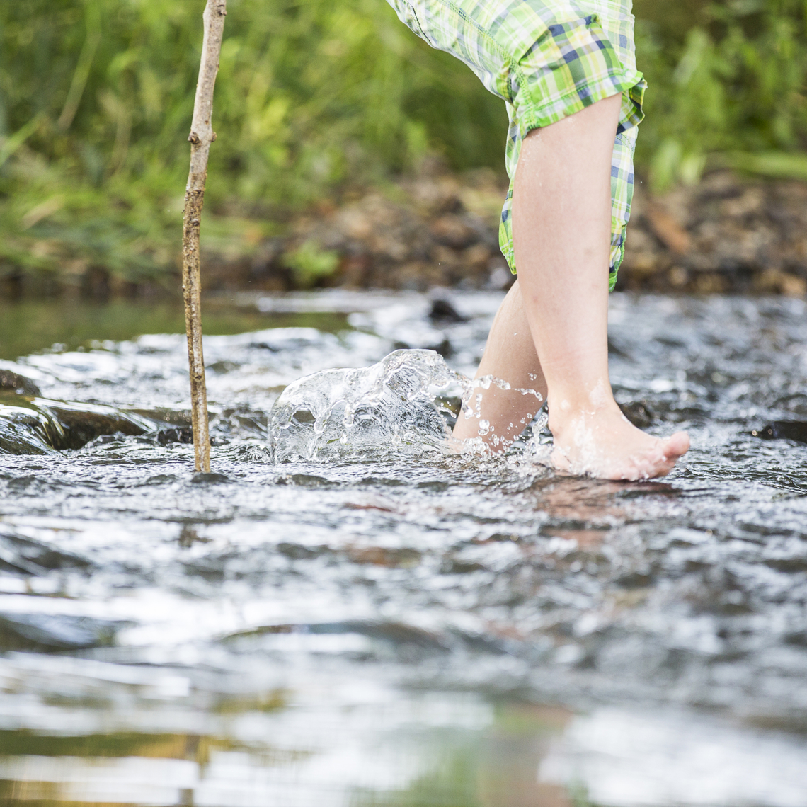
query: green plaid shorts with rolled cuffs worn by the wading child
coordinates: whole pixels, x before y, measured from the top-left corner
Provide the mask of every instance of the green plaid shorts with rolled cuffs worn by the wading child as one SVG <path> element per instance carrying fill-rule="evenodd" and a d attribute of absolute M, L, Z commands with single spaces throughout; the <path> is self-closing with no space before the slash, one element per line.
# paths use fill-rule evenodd
<path fill-rule="evenodd" d="M 507 103 L 510 190 L 499 243 L 510 269 L 512 180 L 531 129 L 618 93 L 622 109 L 611 162 L 610 287 L 625 254 L 633 198 L 633 147 L 646 82 L 636 69 L 632 0 L 388 0 L 433 48 L 457 56 Z"/>

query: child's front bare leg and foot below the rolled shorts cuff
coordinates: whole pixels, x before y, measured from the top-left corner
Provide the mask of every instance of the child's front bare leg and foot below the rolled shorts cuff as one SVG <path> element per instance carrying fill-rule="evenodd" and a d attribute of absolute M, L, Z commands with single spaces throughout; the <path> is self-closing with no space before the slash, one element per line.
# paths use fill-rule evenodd
<path fill-rule="evenodd" d="M 546 378 L 556 466 L 604 479 L 642 479 L 667 474 L 689 438 L 676 433 L 659 440 L 634 428 L 608 381 L 610 179 L 619 111 L 614 95 L 529 133 L 516 169 L 513 237 L 525 319 Z M 520 377 L 539 372 L 536 354 L 512 338 L 508 343 L 504 327 L 491 330 L 490 364 L 509 344 L 517 350 L 510 355 L 521 362 Z M 503 376 L 495 366 L 484 369 Z M 483 408 L 497 411 L 484 399 Z M 512 420 L 501 414 L 499 420 L 487 416 L 500 434 Z M 473 427 L 473 420 L 461 420 L 457 436 Z"/>

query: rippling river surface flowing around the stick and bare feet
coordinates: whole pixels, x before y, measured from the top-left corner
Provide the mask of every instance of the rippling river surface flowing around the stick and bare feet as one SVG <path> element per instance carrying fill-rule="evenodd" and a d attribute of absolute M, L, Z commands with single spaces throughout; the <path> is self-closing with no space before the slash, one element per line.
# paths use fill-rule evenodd
<path fill-rule="evenodd" d="M 500 299 L 237 299 L 210 475 L 184 336 L 57 303 L 29 344 L 4 309 L 0 371 L 38 389 L 0 397 L 2 803 L 807 804 L 803 301 L 612 295 L 618 401 L 692 437 L 662 482 L 555 475 L 540 422 L 442 449 L 423 395 L 278 438 L 307 374 L 472 375 Z"/>

